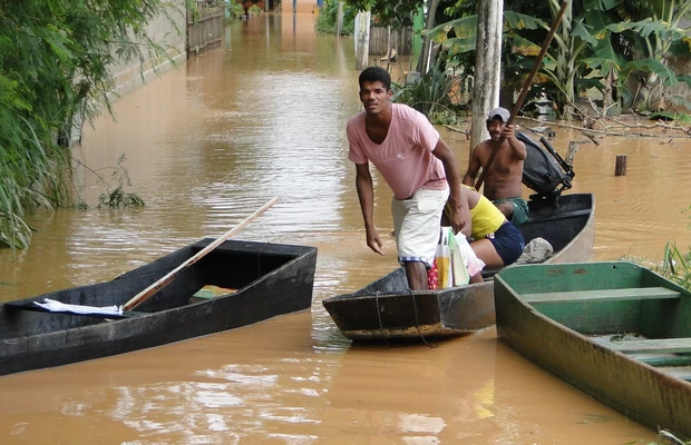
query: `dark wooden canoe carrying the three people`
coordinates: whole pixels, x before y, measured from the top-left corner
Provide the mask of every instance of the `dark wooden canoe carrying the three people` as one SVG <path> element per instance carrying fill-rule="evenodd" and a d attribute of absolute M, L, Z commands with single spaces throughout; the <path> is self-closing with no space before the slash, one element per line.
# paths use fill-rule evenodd
<path fill-rule="evenodd" d="M 542 237 L 554 247 L 547 263 L 585 261 L 595 240 L 591 194 L 564 195 L 556 202 L 529 201 L 531 218 L 519 227 L 526 243 Z M 463 335 L 495 324 L 493 281 L 444 290 L 408 289 L 402 268 L 322 304 L 341 333 L 353 340 Z"/>

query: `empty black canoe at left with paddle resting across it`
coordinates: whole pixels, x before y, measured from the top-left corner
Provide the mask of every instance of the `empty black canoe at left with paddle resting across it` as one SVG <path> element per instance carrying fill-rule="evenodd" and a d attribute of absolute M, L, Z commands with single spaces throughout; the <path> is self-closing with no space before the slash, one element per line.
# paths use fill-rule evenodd
<path fill-rule="evenodd" d="M 182 269 L 130 317 L 27 310 L 43 298 L 124 305 L 212 241 L 192 244 L 111 281 L 0 304 L 0 375 L 159 346 L 310 308 L 317 248 L 230 240 Z M 237 291 L 189 304 L 206 285 Z"/>

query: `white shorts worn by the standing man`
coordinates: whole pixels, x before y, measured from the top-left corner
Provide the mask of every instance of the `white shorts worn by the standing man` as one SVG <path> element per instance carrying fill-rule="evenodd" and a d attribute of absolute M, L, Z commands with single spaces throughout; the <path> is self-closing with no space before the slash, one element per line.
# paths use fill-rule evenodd
<path fill-rule="evenodd" d="M 391 200 L 399 263 L 419 261 L 431 266 L 439 244 L 441 210 L 448 197 L 448 188 L 420 188 L 408 199 Z"/>

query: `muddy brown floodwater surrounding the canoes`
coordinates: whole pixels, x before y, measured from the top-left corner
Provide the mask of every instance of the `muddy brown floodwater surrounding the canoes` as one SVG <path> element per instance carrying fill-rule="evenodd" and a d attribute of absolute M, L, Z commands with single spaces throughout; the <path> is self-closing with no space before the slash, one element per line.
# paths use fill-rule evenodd
<path fill-rule="evenodd" d="M 266 14 L 222 47 L 117 100 L 75 147 L 91 207 L 38 212 L 26 251 L 0 251 L 0 300 L 97 283 L 204 236 L 274 196 L 236 237 L 319 248 L 311 310 L 204 338 L 0 377 L 0 443 L 625 444 L 655 433 L 524 359 L 494 328 L 430 348 L 359 346 L 323 309 L 396 267 L 364 245 L 344 128 L 358 111 L 352 40 L 317 37 L 313 16 Z M 406 59 L 395 67 L 407 70 Z M 524 122 L 536 126 L 535 122 Z M 461 126 L 463 127 L 463 126 Z M 554 127 L 556 149 L 585 139 Z M 465 136 L 440 128 L 461 162 Z M 615 177 L 616 155 L 627 176 Z M 123 164 L 139 209 L 96 207 Z M 593 192 L 591 259 L 660 258 L 691 245 L 688 139 L 582 145 L 573 191 Z M 91 171 L 94 170 L 94 171 Z M 376 178 L 376 222 L 391 228 Z M 113 184 L 113 182 L 111 182 Z M 525 190 L 526 196 L 529 194 Z"/>

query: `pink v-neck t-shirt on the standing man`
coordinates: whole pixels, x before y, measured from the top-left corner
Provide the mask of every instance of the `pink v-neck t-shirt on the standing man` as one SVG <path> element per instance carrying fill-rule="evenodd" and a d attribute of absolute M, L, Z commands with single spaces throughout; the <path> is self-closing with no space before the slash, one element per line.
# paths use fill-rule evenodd
<path fill-rule="evenodd" d="M 367 136 L 366 111 L 348 121 L 348 159 L 354 164 L 371 161 L 397 199 L 412 196 L 420 187 L 447 188 L 444 164 L 431 154 L 439 132 L 425 115 L 406 105 L 391 103 L 391 115 L 389 132 L 381 144 Z"/>

